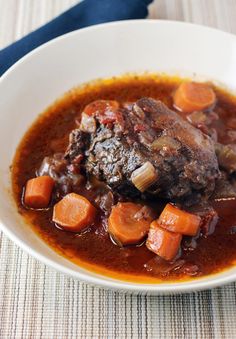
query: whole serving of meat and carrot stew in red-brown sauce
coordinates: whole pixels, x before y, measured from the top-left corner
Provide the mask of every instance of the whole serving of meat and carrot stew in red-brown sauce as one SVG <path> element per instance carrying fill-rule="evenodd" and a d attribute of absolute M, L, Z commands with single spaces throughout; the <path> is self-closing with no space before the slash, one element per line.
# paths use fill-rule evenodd
<path fill-rule="evenodd" d="M 19 213 L 56 251 L 135 282 L 236 261 L 236 98 L 145 75 L 73 89 L 39 116 L 12 165 Z"/>

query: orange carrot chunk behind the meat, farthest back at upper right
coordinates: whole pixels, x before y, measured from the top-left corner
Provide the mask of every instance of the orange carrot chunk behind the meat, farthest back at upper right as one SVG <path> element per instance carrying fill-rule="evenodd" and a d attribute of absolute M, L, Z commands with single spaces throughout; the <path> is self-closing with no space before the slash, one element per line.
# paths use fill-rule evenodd
<path fill-rule="evenodd" d="M 213 89 L 200 82 L 182 82 L 174 94 L 174 106 L 184 113 L 204 110 L 215 100 Z"/>

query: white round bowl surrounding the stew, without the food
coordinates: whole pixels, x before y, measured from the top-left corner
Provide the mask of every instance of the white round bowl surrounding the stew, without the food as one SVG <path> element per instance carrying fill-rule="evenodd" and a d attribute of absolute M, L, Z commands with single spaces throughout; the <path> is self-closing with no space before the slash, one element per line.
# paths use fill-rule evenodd
<path fill-rule="evenodd" d="M 169 21 L 124 21 L 81 29 L 28 54 L 0 79 L 0 223 L 22 249 L 74 278 L 136 293 L 178 293 L 236 280 L 236 268 L 201 279 L 138 284 L 76 266 L 48 247 L 17 213 L 11 197 L 13 155 L 24 132 L 49 104 L 75 85 L 126 72 L 166 72 L 204 77 L 236 91 L 236 37 L 215 29 Z"/>

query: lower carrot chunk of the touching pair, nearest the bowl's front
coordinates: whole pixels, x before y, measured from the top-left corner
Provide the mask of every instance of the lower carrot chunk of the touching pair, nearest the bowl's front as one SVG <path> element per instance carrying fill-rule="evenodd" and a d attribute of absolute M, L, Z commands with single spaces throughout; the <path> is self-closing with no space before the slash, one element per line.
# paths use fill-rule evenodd
<path fill-rule="evenodd" d="M 179 251 L 181 240 L 182 234 L 165 230 L 155 220 L 151 223 L 146 246 L 165 260 L 173 260 Z"/>

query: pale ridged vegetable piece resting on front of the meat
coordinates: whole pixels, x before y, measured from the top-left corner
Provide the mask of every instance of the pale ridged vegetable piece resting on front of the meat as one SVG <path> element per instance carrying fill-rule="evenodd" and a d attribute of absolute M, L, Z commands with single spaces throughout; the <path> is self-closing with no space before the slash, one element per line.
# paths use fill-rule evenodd
<path fill-rule="evenodd" d="M 156 169 L 149 161 L 137 168 L 131 175 L 132 183 L 140 192 L 144 192 L 148 187 L 154 184 L 157 178 L 158 174 Z"/>

